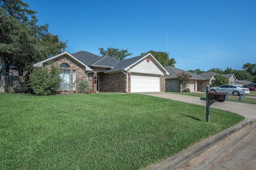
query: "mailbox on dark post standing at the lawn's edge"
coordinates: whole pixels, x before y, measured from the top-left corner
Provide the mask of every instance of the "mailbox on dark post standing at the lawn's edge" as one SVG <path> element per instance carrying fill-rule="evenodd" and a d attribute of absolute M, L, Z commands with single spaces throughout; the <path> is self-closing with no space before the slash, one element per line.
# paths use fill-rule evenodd
<path fill-rule="evenodd" d="M 210 121 L 210 106 L 214 102 L 224 102 L 228 100 L 227 92 L 209 92 L 209 85 L 206 87 L 206 98 L 200 98 L 200 100 L 206 100 L 206 121 Z"/>

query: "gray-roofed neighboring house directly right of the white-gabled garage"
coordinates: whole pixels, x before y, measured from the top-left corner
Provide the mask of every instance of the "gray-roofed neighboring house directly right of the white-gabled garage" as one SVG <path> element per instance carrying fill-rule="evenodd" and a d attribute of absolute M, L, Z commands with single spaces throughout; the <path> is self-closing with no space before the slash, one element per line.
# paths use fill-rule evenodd
<path fill-rule="evenodd" d="M 200 83 L 200 82 L 204 81 L 204 78 L 202 78 L 198 74 L 194 74 L 192 72 L 187 72 L 185 70 L 181 70 L 179 68 L 175 68 L 172 66 L 166 66 L 164 68 L 167 70 L 167 72 L 169 72 L 169 75 L 165 75 L 166 92 L 180 92 L 180 84 L 178 84 L 178 80 L 177 80 L 177 76 L 176 76 L 176 74 L 178 74 L 180 72 L 185 72 L 192 76 L 190 78 L 190 82 L 188 83 L 188 88 L 190 88 L 190 92 L 197 92 L 198 91 L 198 82 Z M 202 90 L 202 89 L 200 89 L 200 90 Z"/>

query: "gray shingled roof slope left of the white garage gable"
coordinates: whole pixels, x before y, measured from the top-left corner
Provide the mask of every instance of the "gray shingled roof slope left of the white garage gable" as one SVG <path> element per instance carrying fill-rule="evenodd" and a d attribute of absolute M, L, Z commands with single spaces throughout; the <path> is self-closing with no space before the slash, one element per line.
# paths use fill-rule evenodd
<path fill-rule="evenodd" d="M 106 73 L 123 70 L 124 68 L 136 63 L 138 60 L 142 59 L 143 57 L 145 57 L 148 54 L 149 53 L 144 54 L 144 55 L 140 55 L 140 56 L 137 56 L 137 57 L 132 57 L 130 59 L 120 60 L 120 61 L 118 61 L 118 63 L 116 64 L 116 66 L 114 68 L 106 71 Z"/>

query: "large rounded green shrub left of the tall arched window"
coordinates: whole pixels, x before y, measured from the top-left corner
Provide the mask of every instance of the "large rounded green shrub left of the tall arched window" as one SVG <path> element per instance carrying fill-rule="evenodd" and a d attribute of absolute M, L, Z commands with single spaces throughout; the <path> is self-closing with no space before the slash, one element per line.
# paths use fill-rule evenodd
<path fill-rule="evenodd" d="M 30 74 L 28 84 L 35 94 L 44 96 L 60 93 L 60 83 L 62 81 L 60 69 L 58 66 L 51 64 L 50 68 L 34 68 L 33 72 Z"/>

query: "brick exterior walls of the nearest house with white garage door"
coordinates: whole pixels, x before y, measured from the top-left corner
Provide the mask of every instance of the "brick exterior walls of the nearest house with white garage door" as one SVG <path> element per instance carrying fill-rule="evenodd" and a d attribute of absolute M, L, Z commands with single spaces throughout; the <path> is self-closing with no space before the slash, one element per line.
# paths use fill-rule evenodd
<path fill-rule="evenodd" d="M 73 90 L 73 70 L 76 70 L 76 80 L 87 80 L 90 88 L 92 88 L 92 92 L 120 92 L 126 93 L 126 74 L 122 72 L 113 73 L 113 74 L 104 74 L 103 72 L 109 70 L 109 68 L 92 68 L 93 72 L 86 72 L 84 66 L 78 64 L 76 61 L 71 59 L 70 57 L 63 55 L 56 59 L 52 59 L 54 64 L 60 66 L 62 63 L 67 63 L 70 65 L 70 68 L 61 68 L 70 70 L 70 89 L 64 90 L 62 94 L 73 94 L 76 93 L 77 90 Z M 43 66 L 47 66 L 47 63 L 44 63 Z M 88 74 L 89 73 L 89 74 Z M 162 76 L 161 80 L 162 84 L 162 92 L 166 90 L 166 80 L 165 77 Z M 128 74 L 128 92 L 131 92 L 130 85 L 130 75 Z M 97 88 L 98 86 L 98 88 Z"/>

